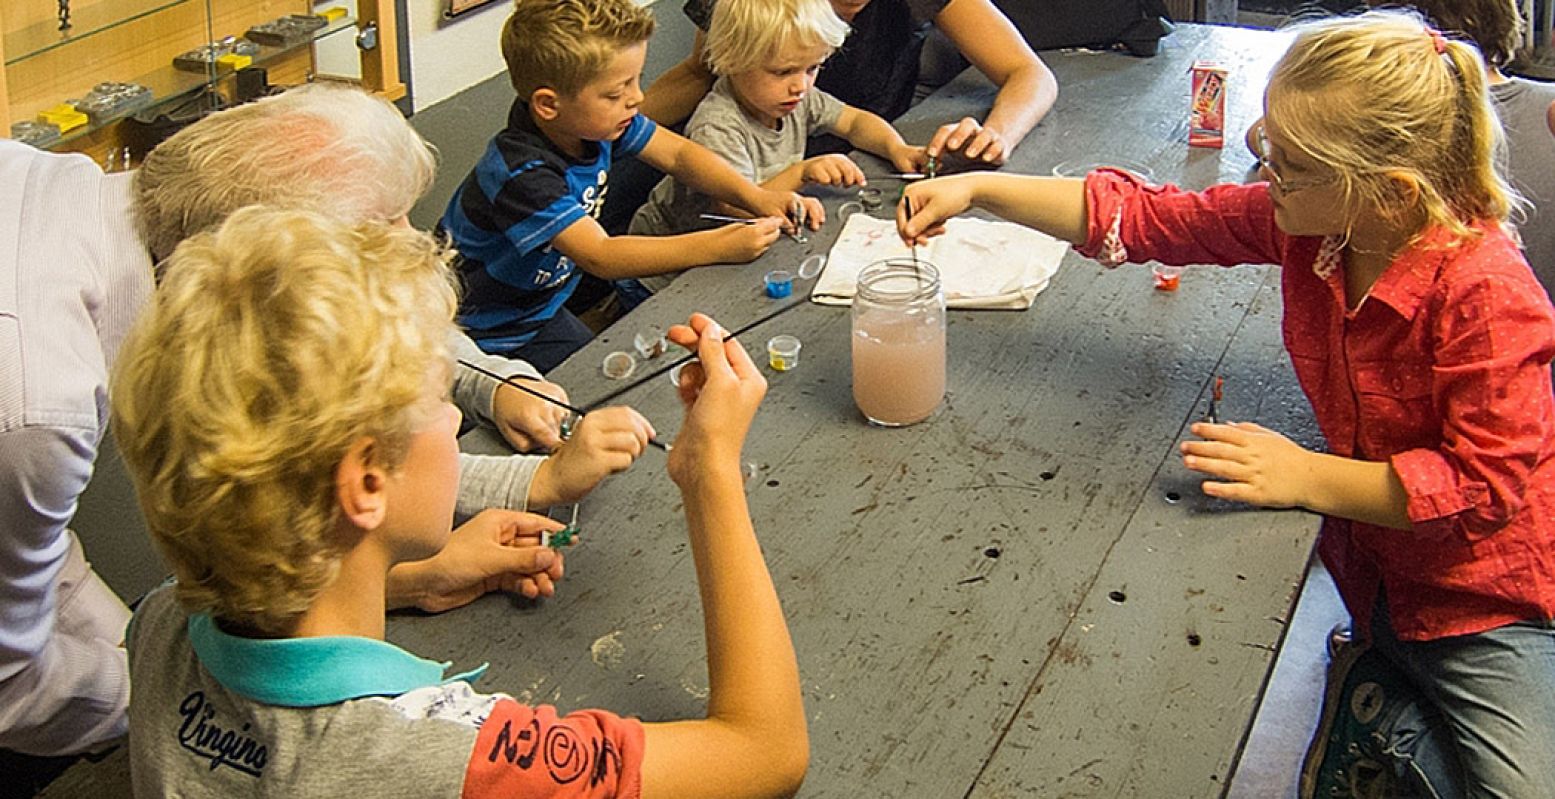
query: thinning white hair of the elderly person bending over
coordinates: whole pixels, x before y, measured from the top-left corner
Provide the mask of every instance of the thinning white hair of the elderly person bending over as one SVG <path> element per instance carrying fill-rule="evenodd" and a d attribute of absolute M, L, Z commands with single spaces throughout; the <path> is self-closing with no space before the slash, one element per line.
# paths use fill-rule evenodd
<path fill-rule="evenodd" d="M 437 159 L 400 112 L 342 84 L 306 84 L 213 113 L 159 145 L 135 177 L 146 247 L 166 258 L 244 205 L 397 221 Z"/>

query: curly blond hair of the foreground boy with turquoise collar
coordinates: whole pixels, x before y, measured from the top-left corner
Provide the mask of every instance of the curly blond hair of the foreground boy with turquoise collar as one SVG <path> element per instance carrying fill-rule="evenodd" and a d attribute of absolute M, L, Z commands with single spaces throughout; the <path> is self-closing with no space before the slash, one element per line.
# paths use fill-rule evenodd
<path fill-rule="evenodd" d="M 244 208 L 174 250 L 110 390 L 124 462 L 179 600 L 285 636 L 336 575 L 334 471 L 403 463 L 449 372 L 454 289 L 431 236 Z"/>

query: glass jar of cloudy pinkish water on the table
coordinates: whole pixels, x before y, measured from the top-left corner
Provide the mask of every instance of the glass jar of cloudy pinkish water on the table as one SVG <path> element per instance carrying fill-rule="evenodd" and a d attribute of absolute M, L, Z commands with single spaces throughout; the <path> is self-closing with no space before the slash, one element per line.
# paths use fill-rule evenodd
<path fill-rule="evenodd" d="M 945 294 L 928 261 L 886 258 L 854 294 L 854 403 L 871 424 L 924 421 L 945 396 Z"/>

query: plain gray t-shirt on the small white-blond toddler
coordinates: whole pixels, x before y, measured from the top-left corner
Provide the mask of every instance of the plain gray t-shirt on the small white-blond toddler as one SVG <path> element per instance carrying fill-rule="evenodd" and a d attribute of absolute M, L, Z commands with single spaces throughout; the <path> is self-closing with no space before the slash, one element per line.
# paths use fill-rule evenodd
<path fill-rule="evenodd" d="M 686 123 L 686 138 L 717 152 L 748 180 L 760 183 L 804 159 L 804 145 L 815 134 L 830 132 L 843 115 L 841 101 L 812 89 L 799 107 L 774 131 L 754 120 L 734 99 L 728 78 L 718 78 Z M 648 202 L 631 218 L 633 235 L 667 236 L 717 227 L 698 219 L 712 208 L 712 197 L 667 176 L 653 187 Z"/>

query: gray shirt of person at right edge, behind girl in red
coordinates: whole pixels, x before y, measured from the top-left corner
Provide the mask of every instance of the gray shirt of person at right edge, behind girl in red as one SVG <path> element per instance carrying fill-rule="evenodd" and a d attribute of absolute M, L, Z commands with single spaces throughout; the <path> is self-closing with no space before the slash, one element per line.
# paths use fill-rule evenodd
<path fill-rule="evenodd" d="M 1555 101 L 1555 84 L 1513 78 L 1491 85 L 1490 93 L 1507 131 L 1507 173 L 1529 201 L 1527 219 L 1518 225 L 1522 252 L 1544 291 L 1555 297 L 1555 225 L 1541 222 L 1555 215 L 1555 135 L 1544 117 Z"/>

